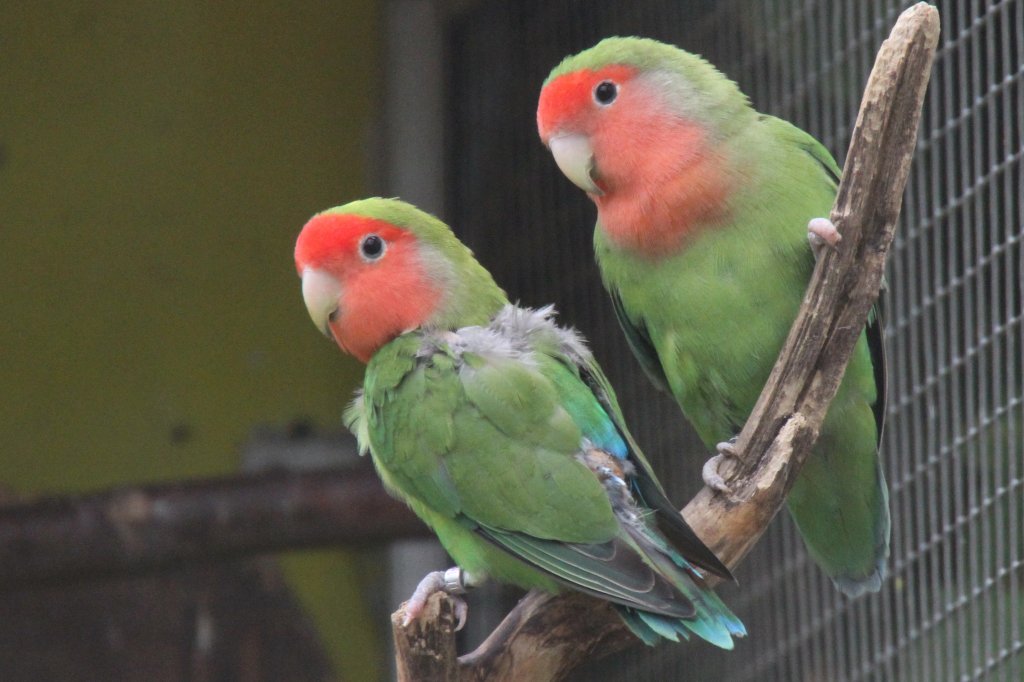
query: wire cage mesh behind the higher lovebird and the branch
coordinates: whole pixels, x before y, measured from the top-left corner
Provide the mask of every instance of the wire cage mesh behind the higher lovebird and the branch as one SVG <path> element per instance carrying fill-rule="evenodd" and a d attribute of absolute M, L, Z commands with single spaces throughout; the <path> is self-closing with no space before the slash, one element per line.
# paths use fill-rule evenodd
<path fill-rule="evenodd" d="M 633 360 L 599 283 L 593 207 L 537 139 L 540 85 L 608 35 L 707 56 L 842 163 L 877 49 L 909 3 L 487 0 L 449 29 L 449 218 L 513 299 L 556 302 L 675 500 L 707 455 Z M 722 593 L 737 650 L 638 648 L 580 680 L 1024 679 L 1024 0 L 938 3 L 942 38 L 884 294 L 890 578 L 849 600 L 785 514 Z"/>

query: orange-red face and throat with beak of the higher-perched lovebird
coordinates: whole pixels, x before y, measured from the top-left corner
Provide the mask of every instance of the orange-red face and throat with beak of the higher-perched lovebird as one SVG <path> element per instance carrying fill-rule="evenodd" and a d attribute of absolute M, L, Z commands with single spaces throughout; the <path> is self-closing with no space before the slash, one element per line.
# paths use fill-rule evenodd
<path fill-rule="evenodd" d="M 675 111 L 664 81 L 612 65 L 558 76 L 542 90 L 541 139 L 598 208 L 620 248 L 672 253 L 721 218 L 728 176 L 707 129 Z"/>

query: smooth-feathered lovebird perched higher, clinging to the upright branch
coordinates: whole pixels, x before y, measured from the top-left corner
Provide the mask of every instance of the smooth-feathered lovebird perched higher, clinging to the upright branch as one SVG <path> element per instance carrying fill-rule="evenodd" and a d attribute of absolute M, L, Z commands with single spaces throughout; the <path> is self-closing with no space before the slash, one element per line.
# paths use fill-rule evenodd
<path fill-rule="evenodd" d="M 702 58 L 643 38 L 608 38 L 564 59 L 544 83 L 537 121 L 558 167 L 597 206 L 595 256 L 633 352 L 719 451 L 705 479 L 727 489 L 716 466 L 735 454 L 728 441 L 797 315 L 812 246 L 840 239 L 815 219 L 831 209 L 839 167 Z M 879 590 L 889 555 L 884 402 L 872 314 L 787 500 L 811 557 L 850 596 Z"/>

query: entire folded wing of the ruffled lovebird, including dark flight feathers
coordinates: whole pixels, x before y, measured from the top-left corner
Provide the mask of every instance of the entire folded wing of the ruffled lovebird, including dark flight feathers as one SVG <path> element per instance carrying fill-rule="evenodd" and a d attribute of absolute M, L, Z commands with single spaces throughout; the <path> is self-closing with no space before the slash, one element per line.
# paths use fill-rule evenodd
<path fill-rule="evenodd" d="M 609 390 L 603 375 L 588 376 Z M 658 556 L 664 541 L 643 523 L 624 525 L 602 482 L 577 458 L 584 435 L 562 399 L 572 381 L 599 404 L 572 367 L 550 356 L 399 338 L 368 368 L 362 414 L 378 469 L 401 497 L 577 590 L 692 616 L 680 568 L 666 574 L 662 565 L 670 562 Z M 621 421 L 617 406 L 612 411 Z M 645 485 L 660 492 L 637 461 L 650 478 Z"/>

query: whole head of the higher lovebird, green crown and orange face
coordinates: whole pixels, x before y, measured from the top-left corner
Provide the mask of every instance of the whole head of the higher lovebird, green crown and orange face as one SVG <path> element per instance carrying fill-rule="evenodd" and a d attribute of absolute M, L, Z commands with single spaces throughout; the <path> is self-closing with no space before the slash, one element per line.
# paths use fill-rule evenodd
<path fill-rule="evenodd" d="M 653 249 L 684 226 L 648 244 L 627 232 L 650 237 L 657 226 L 638 221 L 702 215 L 720 201 L 722 141 L 752 115 L 735 84 L 700 57 L 645 38 L 607 38 L 551 72 L 537 127 L 558 168 L 597 204 L 602 223 Z M 672 198 L 692 206 L 670 206 Z"/>

